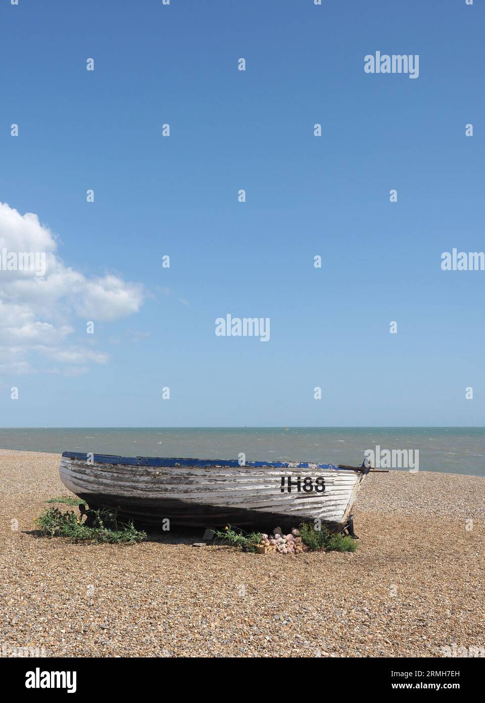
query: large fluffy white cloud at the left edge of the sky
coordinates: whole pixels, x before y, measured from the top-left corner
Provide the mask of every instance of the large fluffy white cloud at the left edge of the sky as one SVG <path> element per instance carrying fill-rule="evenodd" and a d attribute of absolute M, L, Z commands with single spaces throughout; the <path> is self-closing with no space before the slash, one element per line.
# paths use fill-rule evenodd
<path fill-rule="evenodd" d="M 140 309 L 140 284 L 112 274 L 86 277 L 65 266 L 57 247 L 55 236 L 36 214 L 21 215 L 0 203 L 0 373 L 35 370 L 27 358 L 34 355 L 72 365 L 73 373 L 84 373 L 86 363 L 106 363 L 105 352 L 67 344 L 74 332 L 73 318 L 114 321 Z M 5 270 L 6 252 L 45 252 L 45 275 L 39 276 L 39 270 Z"/>

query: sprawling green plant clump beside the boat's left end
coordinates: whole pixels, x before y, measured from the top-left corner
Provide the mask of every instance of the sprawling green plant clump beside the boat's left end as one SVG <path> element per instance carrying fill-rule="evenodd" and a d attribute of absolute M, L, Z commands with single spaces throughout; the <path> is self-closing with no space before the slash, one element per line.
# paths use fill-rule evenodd
<path fill-rule="evenodd" d="M 59 508 L 47 508 L 37 518 L 36 526 L 43 536 L 65 537 L 74 543 L 134 544 L 147 538 L 147 533 L 135 529 L 133 522 L 118 523 L 112 510 L 88 510 L 86 515 L 94 527 L 83 524 L 72 510 L 62 512 Z"/>

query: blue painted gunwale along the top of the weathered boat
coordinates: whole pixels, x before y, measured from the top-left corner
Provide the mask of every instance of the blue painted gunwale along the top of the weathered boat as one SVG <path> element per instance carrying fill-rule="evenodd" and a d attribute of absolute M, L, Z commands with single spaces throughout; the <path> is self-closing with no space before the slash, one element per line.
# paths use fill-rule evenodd
<path fill-rule="evenodd" d="M 62 456 L 69 459 L 80 459 L 87 460 L 87 453 L 80 453 L 77 451 L 64 451 Z M 227 466 L 232 468 L 241 468 L 239 462 L 235 459 L 175 459 L 175 458 L 159 458 L 154 456 L 114 456 L 111 454 L 94 454 L 93 461 L 97 464 L 119 464 L 123 466 L 148 466 L 148 467 L 160 467 L 166 466 L 178 467 L 178 466 L 192 466 L 206 468 L 209 466 Z M 291 465 L 293 464 L 293 465 Z M 360 471 L 360 467 L 347 467 L 347 466 L 337 466 L 335 464 L 317 464 L 313 462 L 289 462 L 289 461 L 246 461 L 244 466 L 253 468 L 272 468 L 272 469 L 331 469 L 335 471 Z M 365 470 L 368 473 L 368 469 Z"/>

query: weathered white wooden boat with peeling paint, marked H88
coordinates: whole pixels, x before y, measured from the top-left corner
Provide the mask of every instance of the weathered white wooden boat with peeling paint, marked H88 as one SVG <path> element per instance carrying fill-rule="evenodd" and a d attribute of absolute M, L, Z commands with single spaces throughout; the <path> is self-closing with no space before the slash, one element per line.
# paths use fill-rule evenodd
<path fill-rule="evenodd" d="M 344 529 L 368 468 L 283 461 L 164 459 L 65 451 L 60 479 L 91 510 L 140 524 Z"/>

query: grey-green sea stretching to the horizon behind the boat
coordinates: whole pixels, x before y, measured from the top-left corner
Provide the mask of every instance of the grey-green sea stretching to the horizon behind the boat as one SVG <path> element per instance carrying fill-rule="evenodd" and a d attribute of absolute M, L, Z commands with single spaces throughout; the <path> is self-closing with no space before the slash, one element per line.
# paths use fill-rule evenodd
<path fill-rule="evenodd" d="M 408 450 L 420 471 L 485 476 L 485 427 L 11 428 L 0 429 L 0 448 L 352 466 L 368 450 Z"/>

